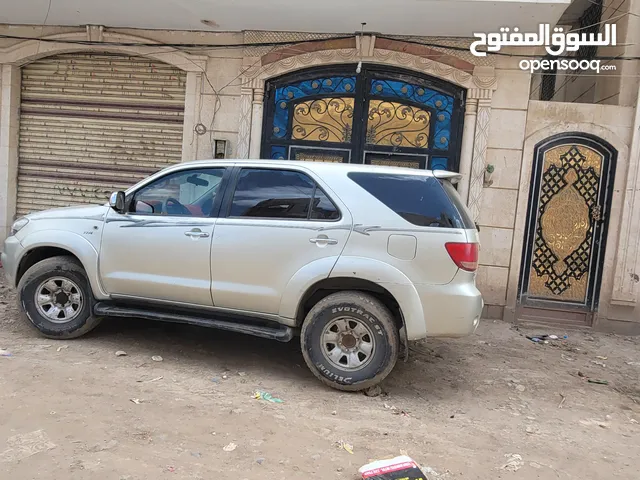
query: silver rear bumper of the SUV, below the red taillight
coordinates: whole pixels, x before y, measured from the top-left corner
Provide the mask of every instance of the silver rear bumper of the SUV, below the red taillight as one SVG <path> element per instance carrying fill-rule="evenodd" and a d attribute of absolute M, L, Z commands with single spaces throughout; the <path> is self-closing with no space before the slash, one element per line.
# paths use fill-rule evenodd
<path fill-rule="evenodd" d="M 473 281 L 460 276 L 448 285 L 429 285 L 420 292 L 427 337 L 465 337 L 478 328 L 482 294 Z"/>

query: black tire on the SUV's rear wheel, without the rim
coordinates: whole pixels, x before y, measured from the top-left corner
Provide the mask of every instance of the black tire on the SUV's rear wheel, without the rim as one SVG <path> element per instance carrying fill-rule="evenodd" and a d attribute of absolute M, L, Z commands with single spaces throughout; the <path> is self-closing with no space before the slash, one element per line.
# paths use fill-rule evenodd
<path fill-rule="evenodd" d="M 358 370 L 339 368 L 324 353 L 325 327 L 345 316 L 368 326 L 375 338 L 370 360 Z M 355 392 L 379 384 L 391 373 L 398 360 L 400 336 L 393 315 L 382 302 L 361 292 L 339 292 L 314 305 L 302 324 L 300 343 L 304 360 L 318 379 L 331 388 Z"/>

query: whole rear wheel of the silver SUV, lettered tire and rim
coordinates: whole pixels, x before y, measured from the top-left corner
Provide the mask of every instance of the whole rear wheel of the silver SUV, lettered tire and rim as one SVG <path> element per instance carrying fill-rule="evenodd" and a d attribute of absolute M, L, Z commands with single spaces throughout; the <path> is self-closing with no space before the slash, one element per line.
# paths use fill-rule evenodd
<path fill-rule="evenodd" d="M 382 302 L 361 292 L 339 292 L 320 300 L 301 332 L 302 354 L 313 374 L 345 391 L 365 390 L 391 373 L 400 338 Z"/>

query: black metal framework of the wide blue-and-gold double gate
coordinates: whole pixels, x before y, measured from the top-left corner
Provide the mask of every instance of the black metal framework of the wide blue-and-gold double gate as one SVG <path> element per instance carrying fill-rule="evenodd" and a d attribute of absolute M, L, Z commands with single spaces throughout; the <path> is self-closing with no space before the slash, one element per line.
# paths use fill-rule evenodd
<path fill-rule="evenodd" d="M 275 116 L 275 91 L 277 88 L 293 84 L 305 80 L 312 80 L 314 78 L 323 78 L 328 76 L 351 76 L 356 77 L 356 86 L 354 92 L 335 94 L 340 97 L 354 98 L 354 121 L 353 130 L 351 134 L 351 142 L 349 143 L 333 143 L 333 142 L 317 142 L 317 141 L 305 141 L 305 140 L 290 140 L 290 139 L 278 139 L 273 138 L 273 124 Z M 438 150 L 433 147 L 435 125 L 436 122 L 432 121 L 430 125 L 430 136 L 428 148 L 415 148 L 415 147 L 394 147 L 383 145 L 367 145 L 366 144 L 366 120 L 367 112 L 369 111 L 370 99 L 381 99 L 394 102 L 400 102 L 406 105 L 410 105 L 423 110 L 431 110 L 424 104 L 412 102 L 404 97 L 396 96 L 382 96 L 371 95 L 369 92 L 371 82 L 373 80 L 395 80 L 404 81 L 407 83 L 420 84 L 427 89 L 432 89 L 437 92 L 441 92 L 445 95 L 449 95 L 454 99 L 454 105 L 451 114 L 451 128 L 449 146 L 446 150 Z M 268 80 L 265 85 L 264 96 L 264 111 L 263 125 L 262 125 L 262 145 L 261 156 L 262 158 L 271 158 L 270 149 L 271 146 L 282 145 L 287 151 L 290 151 L 291 146 L 296 147 L 310 147 L 310 148 L 323 148 L 323 149 L 335 149 L 351 151 L 350 162 L 351 163 L 364 163 L 365 151 L 374 153 L 390 153 L 390 154 L 407 154 L 407 155 L 423 155 L 431 157 L 447 157 L 449 159 L 449 170 L 458 171 L 460 166 L 460 151 L 462 140 L 462 127 L 464 121 L 464 103 L 465 103 L 466 91 L 458 86 L 452 85 L 443 80 L 439 80 L 432 77 L 419 74 L 413 71 L 407 71 L 396 67 L 387 67 L 373 64 L 363 64 L 361 72 L 356 73 L 356 65 L 331 65 L 305 69 L 292 74 L 283 75 L 271 80 Z M 309 95 L 301 98 L 301 101 L 309 101 L 320 98 L 330 97 L 331 94 L 318 94 Z M 435 111 L 431 110 L 432 119 L 435 118 Z M 291 131 L 291 124 L 293 122 L 293 115 L 289 115 L 288 118 L 288 131 Z M 429 162 L 430 163 L 430 162 Z M 430 166 L 430 165 L 429 165 Z"/>

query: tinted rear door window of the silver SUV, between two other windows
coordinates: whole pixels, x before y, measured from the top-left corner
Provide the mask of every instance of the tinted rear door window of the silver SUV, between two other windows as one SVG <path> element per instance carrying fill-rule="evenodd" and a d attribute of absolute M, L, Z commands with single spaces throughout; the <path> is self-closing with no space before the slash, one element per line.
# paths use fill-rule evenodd
<path fill-rule="evenodd" d="M 333 220 L 340 213 L 304 173 L 246 168 L 240 172 L 229 216 Z"/>

